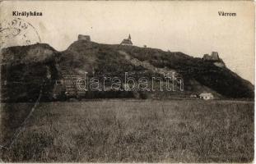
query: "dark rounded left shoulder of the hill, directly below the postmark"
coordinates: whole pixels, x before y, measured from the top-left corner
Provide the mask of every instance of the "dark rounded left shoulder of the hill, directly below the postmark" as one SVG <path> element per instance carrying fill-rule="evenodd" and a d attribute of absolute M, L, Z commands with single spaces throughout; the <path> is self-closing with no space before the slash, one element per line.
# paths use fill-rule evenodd
<path fill-rule="evenodd" d="M 58 76 L 58 52 L 48 44 L 4 48 L 1 52 L 1 101 L 34 102 L 42 89 L 49 97 Z"/>

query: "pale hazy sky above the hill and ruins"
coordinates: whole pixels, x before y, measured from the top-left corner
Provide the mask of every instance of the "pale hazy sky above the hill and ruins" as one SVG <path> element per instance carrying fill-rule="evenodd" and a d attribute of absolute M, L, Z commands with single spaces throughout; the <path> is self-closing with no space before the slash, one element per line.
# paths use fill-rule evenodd
<path fill-rule="evenodd" d="M 89 34 L 98 43 L 120 43 L 131 34 L 134 45 L 180 51 L 193 57 L 219 52 L 230 70 L 254 83 L 253 2 L 2 2 L 0 19 L 12 11 L 41 11 L 21 16 L 58 51 Z M 218 11 L 236 16 L 219 16 Z"/>

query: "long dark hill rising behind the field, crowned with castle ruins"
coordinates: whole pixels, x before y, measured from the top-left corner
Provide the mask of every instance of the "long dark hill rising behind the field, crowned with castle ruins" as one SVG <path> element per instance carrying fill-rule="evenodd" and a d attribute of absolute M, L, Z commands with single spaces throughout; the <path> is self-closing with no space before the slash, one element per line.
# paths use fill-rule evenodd
<path fill-rule="evenodd" d="M 64 80 L 63 72 L 67 69 L 73 72 L 72 78 L 88 72 L 91 76 L 120 75 L 123 80 L 124 72 L 130 72 L 134 78 L 143 75 L 151 80 L 152 76 L 163 77 L 163 72 L 175 72 L 183 80 L 184 91 L 145 92 L 151 98 L 189 98 L 191 94 L 202 92 L 211 92 L 216 98 L 254 98 L 254 85 L 230 71 L 221 58 L 212 61 L 183 52 L 86 40 L 72 43 L 63 52 L 41 43 L 5 48 L 1 57 L 2 101 L 35 101 L 40 89 L 43 89 L 44 99 L 51 100 L 58 90 L 56 80 Z M 134 91 L 123 97 L 139 98 L 137 93 L 144 94 Z M 113 92 L 97 93 L 90 98 L 99 97 L 113 98 Z"/>

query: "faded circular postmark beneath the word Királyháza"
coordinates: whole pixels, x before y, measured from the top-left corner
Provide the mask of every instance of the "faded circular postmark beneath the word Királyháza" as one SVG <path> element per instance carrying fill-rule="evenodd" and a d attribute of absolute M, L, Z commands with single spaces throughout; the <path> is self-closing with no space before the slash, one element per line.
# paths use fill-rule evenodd
<path fill-rule="evenodd" d="M 29 22 L 21 18 L 0 22 L 0 49 L 40 42 L 40 35 Z"/>

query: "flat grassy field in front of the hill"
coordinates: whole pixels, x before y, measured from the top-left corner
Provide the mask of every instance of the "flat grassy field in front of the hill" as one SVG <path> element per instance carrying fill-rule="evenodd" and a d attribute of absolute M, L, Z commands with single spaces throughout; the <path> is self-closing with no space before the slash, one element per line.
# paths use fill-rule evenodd
<path fill-rule="evenodd" d="M 32 104 L 2 107 L 7 142 Z M 40 103 L 12 147 L 0 152 L 3 162 L 251 162 L 254 103 Z"/>

